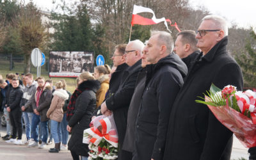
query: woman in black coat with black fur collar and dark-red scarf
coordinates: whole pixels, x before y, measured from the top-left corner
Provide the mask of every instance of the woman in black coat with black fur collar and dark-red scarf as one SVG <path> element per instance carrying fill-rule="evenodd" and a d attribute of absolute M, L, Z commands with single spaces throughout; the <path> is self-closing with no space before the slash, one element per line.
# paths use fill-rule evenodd
<path fill-rule="evenodd" d="M 96 92 L 100 88 L 99 81 L 90 74 L 83 72 L 79 76 L 79 85 L 71 96 L 67 109 L 67 130 L 71 133 L 68 141 L 68 150 L 70 150 L 73 159 L 88 158 L 88 145 L 83 143 L 84 129 L 90 126 L 93 112 L 96 108 Z"/>

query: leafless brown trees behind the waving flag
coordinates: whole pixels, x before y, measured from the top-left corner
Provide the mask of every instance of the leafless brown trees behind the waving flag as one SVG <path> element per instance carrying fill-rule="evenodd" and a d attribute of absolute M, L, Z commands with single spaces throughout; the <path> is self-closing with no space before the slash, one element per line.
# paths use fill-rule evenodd
<path fill-rule="evenodd" d="M 125 43 L 128 40 L 131 28 L 133 5 L 140 5 L 151 8 L 157 18 L 165 17 L 175 21 L 182 28 L 183 20 L 188 17 L 188 0 L 81 0 L 88 6 L 88 13 L 94 22 L 106 29 L 106 44 L 109 47 L 109 54 L 116 44 Z M 151 13 L 140 13 L 143 17 L 151 19 Z M 169 26 L 173 34 L 177 30 Z M 167 31 L 161 24 L 152 25 L 145 29 L 158 29 Z"/>

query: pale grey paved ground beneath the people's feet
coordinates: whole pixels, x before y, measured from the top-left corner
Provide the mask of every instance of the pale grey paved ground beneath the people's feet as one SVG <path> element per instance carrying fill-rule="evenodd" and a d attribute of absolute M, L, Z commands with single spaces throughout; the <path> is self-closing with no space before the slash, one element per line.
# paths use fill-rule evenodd
<path fill-rule="evenodd" d="M 5 127 L 1 128 L 1 136 L 5 135 Z M 26 134 L 23 133 L 22 140 L 26 138 Z M 72 156 L 68 150 L 61 150 L 59 153 L 49 153 L 49 148 L 53 148 L 54 145 L 47 145 L 46 148 L 30 148 L 25 145 L 14 145 L 6 143 L 0 138 L 0 159 L 4 160 L 51 160 L 51 159 L 72 159 Z M 233 148 L 231 159 L 239 160 L 241 157 L 248 159 L 249 155 L 247 152 L 248 148 L 243 147 L 243 145 L 234 136 Z"/>

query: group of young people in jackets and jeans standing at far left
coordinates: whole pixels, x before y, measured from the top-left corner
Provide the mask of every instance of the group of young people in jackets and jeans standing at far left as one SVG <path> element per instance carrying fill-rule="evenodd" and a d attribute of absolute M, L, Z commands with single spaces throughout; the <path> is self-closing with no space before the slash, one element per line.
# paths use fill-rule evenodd
<path fill-rule="evenodd" d="M 67 149 L 66 112 L 71 93 L 66 90 L 65 80 L 60 80 L 54 87 L 51 79 L 33 79 L 33 74 L 26 74 L 22 79 L 16 74 L 7 74 L 6 79 L 1 77 L 1 108 L 6 116 L 6 135 L 2 137 L 3 140 L 17 145 L 44 148 L 52 143 L 53 138 L 54 152 L 60 150 L 60 143 L 61 149 Z M 22 141 L 22 119 L 26 141 Z"/>

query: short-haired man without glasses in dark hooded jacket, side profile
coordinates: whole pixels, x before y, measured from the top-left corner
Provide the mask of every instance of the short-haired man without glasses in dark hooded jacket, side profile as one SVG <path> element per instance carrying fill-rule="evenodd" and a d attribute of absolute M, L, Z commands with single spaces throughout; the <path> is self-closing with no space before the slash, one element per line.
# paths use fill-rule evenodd
<path fill-rule="evenodd" d="M 168 120 L 173 101 L 183 84 L 188 68 L 173 50 L 170 33 L 157 31 L 148 40 L 145 51 L 147 77 L 141 97 L 135 129 L 133 159 L 162 159 Z"/>

